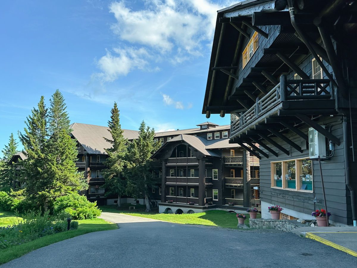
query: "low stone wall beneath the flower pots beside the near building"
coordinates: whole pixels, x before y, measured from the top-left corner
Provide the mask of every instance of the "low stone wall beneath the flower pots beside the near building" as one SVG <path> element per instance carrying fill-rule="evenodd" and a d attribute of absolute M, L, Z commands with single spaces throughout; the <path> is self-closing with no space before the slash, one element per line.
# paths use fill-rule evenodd
<path fill-rule="evenodd" d="M 250 228 L 258 229 L 277 229 L 290 232 L 295 228 L 306 227 L 308 225 L 297 222 L 296 220 L 275 220 L 275 219 L 249 219 Z"/>

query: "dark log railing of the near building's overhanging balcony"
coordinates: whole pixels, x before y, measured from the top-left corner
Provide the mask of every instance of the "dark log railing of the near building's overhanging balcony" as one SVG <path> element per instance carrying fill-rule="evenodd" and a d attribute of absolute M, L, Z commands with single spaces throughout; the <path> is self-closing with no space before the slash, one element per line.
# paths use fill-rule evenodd
<path fill-rule="evenodd" d="M 241 113 L 239 118 L 231 123 L 231 137 L 240 133 L 243 128 L 254 121 L 263 119 L 268 111 L 274 109 L 282 102 L 290 100 L 333 99 L 330 82 L 329 79 L 286 80 L 286 76 L 281 75 L 279 84 L 261 99 L 257 98 L 256 103 L 251 108 L 245 113 Z M 313 108 L 311 107 L 311 109 Z"/>

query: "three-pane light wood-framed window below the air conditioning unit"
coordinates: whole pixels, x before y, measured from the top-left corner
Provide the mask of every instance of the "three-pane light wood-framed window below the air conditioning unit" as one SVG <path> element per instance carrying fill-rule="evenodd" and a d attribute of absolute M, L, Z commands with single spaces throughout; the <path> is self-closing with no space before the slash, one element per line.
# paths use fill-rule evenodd
<path fill-rule="evenodd" d="M 309 158 L 271 162 L 271 187 L 312 192 L 312 170 Z"/>

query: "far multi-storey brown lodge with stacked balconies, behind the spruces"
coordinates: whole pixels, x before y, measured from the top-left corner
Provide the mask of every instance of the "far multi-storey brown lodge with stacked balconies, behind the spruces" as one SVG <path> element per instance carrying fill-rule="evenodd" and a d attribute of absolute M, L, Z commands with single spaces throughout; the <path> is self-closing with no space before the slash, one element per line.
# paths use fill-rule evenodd
<path fill-rule="evenodd" d="M 249 156 L 240 145 L 228 143 L 230 125 L 205 122 L 197 126 L 156 133 L 162 147 L 152 162 L 157 186 L 151 189 L 151 205 L 159 203 L 160 212 L 167 212 L 167 202 L 173 200 L 169 212 L 187 213 L 226 208 L 228 203 L 231 203 L 230 210 L 260 203 L 258 191 L 253 189 L 259 186 L 258 158 Z M 78 144 L 76 165 L 89 181 L 89 189 L 83 194 L 99 205 L 117 203 L 117 196 L 107 197 L 102 187 L 105 148 L 111 146 L 104 139 L 111 139 L 108 128 L 74 123 L 71 129 Z M 139 131 L 124 129 L 124 137 L 129 141 L 137 139 L 138 134 Z M 122 203 L 134 202 L 130 197 L 122 199 Z M 138 201 L 144 204 L 144 198 Z M 208 202 L 212 204 L 208 206 Z"/>

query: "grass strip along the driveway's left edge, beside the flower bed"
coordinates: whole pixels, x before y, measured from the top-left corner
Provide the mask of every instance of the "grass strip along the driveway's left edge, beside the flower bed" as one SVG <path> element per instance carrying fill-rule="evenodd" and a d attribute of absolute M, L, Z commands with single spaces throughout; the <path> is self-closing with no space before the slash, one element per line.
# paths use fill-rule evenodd
<path fill-rule="evenodd" d="M 11 213 L 4 213 L 0 211 L 0 222 L 2 215 L 11 215 Z M 11 216 L 10 216 L 11 217 Z M 9 217 L 6 217 L 9 218 Z M 103 219 L 91 219 L 91 220 L 78 220 L 79 227 L 77 230 L 70 230 L 67 232 L 57 233 L 41 237 L 39 239 L 27 242 L 25 244 L 16 245 L 11 248 L 3 249 L 0 251 L 0 264 L 9 262 L 12 259 L 21 257 L 22 255 L 29 253 L 32 250 L 45 247 L 65 239 L 76 237 L 78 235 L 117 229 L 117 225 L 114 223 L 107 222 Z M 17 223 L 17 220 L 16 220 Z"/>

